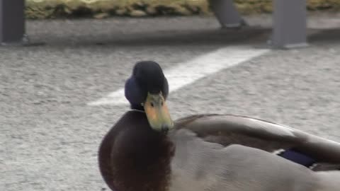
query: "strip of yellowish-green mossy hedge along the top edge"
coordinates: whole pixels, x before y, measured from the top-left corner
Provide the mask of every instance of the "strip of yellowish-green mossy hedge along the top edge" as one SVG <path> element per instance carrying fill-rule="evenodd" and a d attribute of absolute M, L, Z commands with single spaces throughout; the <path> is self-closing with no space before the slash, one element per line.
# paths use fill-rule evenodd
<path fill-rule="evenodd" d="M 243 14 L 271 13 L 272 0 L 234 0 Z M 309 11 L 339 11 L 340 0 L 307 0 Z M 27 18 L 211 14 L 208 0 L 26 0 Z"/>

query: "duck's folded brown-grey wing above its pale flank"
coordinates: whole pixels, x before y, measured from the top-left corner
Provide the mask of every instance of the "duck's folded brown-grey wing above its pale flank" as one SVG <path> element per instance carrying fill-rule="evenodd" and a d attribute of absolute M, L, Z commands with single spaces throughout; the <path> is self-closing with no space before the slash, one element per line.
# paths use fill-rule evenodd
<path fill-rule="evenodd" d="M 296 151 L 319 164 L 314 170 L 340 168 L 340 144 L 298 129 L 239 115 L 191 115 L 175 122 L 205 141 L 228 146 L 241 144 L 268 152 Z"/>

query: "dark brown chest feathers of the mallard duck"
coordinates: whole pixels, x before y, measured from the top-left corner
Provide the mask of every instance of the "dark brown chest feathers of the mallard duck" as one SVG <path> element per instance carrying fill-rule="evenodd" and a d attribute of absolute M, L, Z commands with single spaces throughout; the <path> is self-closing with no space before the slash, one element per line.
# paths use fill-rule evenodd
<path fill-rule="evenodd" d="M 111 190 L 166 191 L 173 155 L 174 145 L 166 135 L 149 128 L 142 114 L 128 112 L 103 139 L 99 166 Z"/>

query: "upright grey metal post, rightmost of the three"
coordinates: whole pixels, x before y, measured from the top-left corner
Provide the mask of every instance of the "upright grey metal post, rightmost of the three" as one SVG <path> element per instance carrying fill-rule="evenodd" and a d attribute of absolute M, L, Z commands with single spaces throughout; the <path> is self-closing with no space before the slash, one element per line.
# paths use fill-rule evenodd
<path fill-rule="evenodd" d="M 306 0 L 273 0 L 274 48 L 307 46 Z"/>

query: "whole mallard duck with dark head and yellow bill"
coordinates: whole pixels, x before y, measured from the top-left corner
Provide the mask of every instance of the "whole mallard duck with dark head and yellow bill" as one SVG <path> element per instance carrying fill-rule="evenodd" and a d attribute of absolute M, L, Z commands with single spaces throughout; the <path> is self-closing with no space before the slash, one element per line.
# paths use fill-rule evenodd
<path fill-rule="evenodd" d="M 125 83 L 130 110 L 98 152 L 111 190 L 339 190 L 339 143 L 238 115 L 173 121 L 168 95 L 159 64 L 135 64 Z"/>

